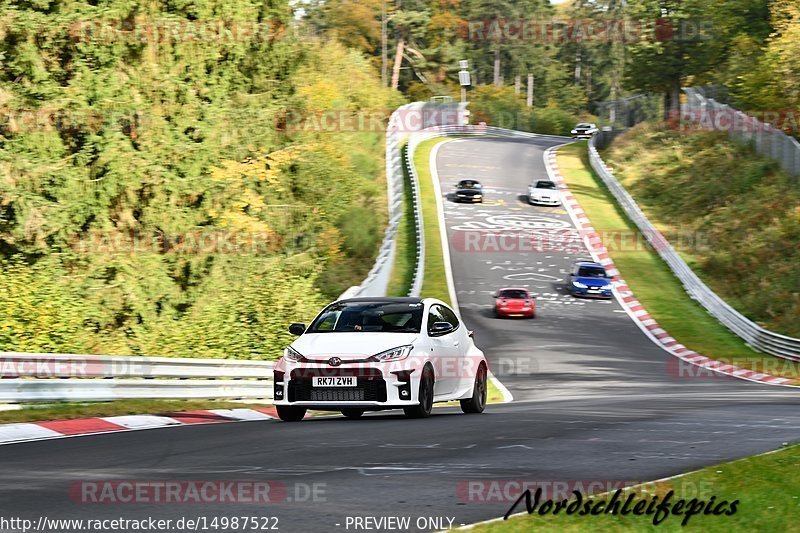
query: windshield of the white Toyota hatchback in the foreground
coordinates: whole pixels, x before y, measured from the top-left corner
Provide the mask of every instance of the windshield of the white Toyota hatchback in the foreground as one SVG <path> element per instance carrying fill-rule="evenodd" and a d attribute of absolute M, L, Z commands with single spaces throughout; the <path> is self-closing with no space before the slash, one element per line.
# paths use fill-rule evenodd
<path fill-rule="evenodd" d="M 328 306 L 308 331 L 419 333 L 422 310 L 421 303 L 339 302 Z"/>

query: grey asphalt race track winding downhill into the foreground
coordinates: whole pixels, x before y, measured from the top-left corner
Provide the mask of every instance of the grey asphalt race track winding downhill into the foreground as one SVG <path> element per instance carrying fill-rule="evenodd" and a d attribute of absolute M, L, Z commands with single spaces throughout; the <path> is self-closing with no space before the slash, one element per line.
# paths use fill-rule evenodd
<path fill-rule="evenodd" d="M 461 314 L 514 402 L 483 415 L 441 408 L 426 420 L 389 412 L 2 446 L 4 509 L 33 520 L 277 516 L 282 531 L 352 531 L 348 516 L 410 516 L 415 529 L 417 517 L 460 525 L 505 513 L 509 502 L 471 501 L 469 480 L 644 481 L 797 440 L 800 392 L 681 377 L 616 302 L 566 295 L 567 268 L 586 257 L 581 250 L 466 249 L 459 232 L 571 227 L 562 209 L 524 201 L 527 184 L 546 178 L 542 154 L 554 144 L 457 140 L 437 157 L 445 194 L 466 177 L 487 188 L 483 205 L 445 199 L 445 216 Z M 537 318 L 494 318 L 490 294 L 503 286 L 536 293 Z M 269 480 L 292 501 L 101 505 L 70 497 L 76 482 L 103 480 Z M 322 492 L 308 501 L 314 484 Z"/>

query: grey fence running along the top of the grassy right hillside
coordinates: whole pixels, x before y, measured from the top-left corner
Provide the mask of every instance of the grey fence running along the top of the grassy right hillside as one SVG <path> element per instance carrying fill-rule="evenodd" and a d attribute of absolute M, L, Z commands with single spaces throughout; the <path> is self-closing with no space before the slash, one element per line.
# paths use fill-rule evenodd
<path fill-rule="evenodd" d="M 774 159 L 789 174 L 800 177 L 800 142 L 771 124 L 761 122 L 727 104 L 705 97 L 699 88 L 685 87 L 687 101 L 681 112 L 700 128 L 724 131 L 740 142 L 752 143 L 756 151 Z"/>

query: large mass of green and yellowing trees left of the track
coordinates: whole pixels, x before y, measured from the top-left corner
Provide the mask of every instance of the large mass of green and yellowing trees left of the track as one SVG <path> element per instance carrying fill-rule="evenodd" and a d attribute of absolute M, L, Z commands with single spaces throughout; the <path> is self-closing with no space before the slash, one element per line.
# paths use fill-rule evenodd
<path fill-rule="evenodd" d="M 287 320 L 360 282 L 385 220 L 382 127 L 312 119 L 400 99 L 292 16 L 277 0 L 4 10 L 0 349 L 272 358 Z M 355 237 L 354 208 L 372 228 Z"/>

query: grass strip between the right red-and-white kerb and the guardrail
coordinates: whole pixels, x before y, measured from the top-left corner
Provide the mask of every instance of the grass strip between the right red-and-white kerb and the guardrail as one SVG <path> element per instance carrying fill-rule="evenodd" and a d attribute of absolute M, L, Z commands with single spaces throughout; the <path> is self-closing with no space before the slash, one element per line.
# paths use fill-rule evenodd
<path fill-rule="evenodd" d="M 592 171 L 586 143 L 558 150 L 558 165 L 575 198 L 598 232 L 638 233 L 605 184 Z M 613 233 L 611 233 L 613 234 Z M 650 248 L 610 251 L 623 279 L 650 315 L 686 347 L 706 357 L 786 378 L 798 365 L 758 353 L 692 300 L 666 263 Z"/>

